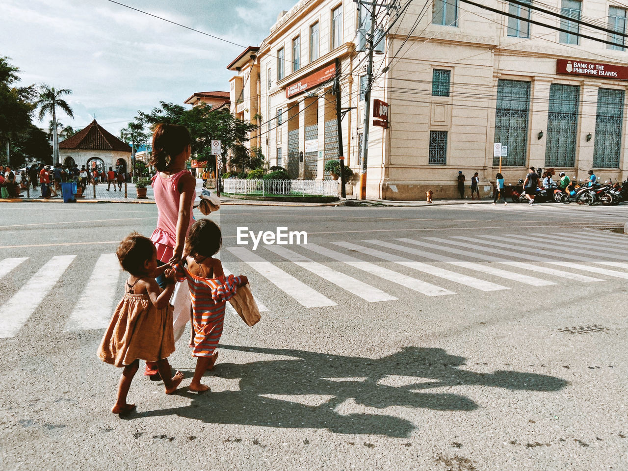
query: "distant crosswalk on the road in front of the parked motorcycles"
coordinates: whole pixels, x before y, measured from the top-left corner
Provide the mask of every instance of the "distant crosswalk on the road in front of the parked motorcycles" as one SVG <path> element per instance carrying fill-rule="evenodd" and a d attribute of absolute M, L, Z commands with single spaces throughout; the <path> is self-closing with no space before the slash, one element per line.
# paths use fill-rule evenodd
<path fill-rule="evenodd" d="M 501 214 L 526 214 L 526 215 L 547 215 L 551 217 L 563 217 L 566 219 L 583 219 L 586 222 L 617 222 L 628 221 L 628 205 L 619 206 L 605 205 L 569 205 L 563 203 L 539 203 L 530 206 L 526 203 L 513 203 L 508 205 L 490 204 L 462 204 L 437 206 L 436 208 L 446 208 L 457 211 L 486 211 L 498 212 Z"/>

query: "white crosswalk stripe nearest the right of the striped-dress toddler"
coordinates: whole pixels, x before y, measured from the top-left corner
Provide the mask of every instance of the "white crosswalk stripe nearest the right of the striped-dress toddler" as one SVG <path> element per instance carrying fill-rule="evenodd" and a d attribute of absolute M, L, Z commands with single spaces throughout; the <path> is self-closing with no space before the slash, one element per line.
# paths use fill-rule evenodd
<path fill-rule="evenodd" d="M 295 298 L 296 301 L 306 308 L 337 306 L 337 304 L 327 298 L 327 296 L 313 290 L 307 284 L 299 281 L 294 276 L 274 266 L 272 263 L 267 262 L 249 249 L 244 247 L 226 247 L 226 249 L 244 263 L 248 264 L 252 269 L 257 271 L 257 273 L 268 279 L 268 281 L 277 286 L 279 290 Z"/>

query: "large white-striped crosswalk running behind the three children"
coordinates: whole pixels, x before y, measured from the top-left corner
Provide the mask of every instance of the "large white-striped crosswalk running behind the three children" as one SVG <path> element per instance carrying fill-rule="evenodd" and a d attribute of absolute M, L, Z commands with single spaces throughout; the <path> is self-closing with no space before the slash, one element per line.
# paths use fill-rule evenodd
<path fill-rule="evenodd" d="M 291 304 L 306 310 L 386 305 L 416 297 L 494 296 L 522 286 L 628 279 L 628 237 L 599 230 L 474 236 L 356 238 L 303 246 L 225 247 L 225 273 L 244 273 L 261 311 L 281 315 Z M 35 266 L 28 257 L 0 260 L 0 280 L 15 286 L 0 293 L 0 338 L 28 335 L 34 315 L 62 283 L 77 255 L 53 256 Z M 75 265 L 84 267 L 84 260 Z M 32 272 L 32 273 L 31 273 Z M 106 327 L 122 295 L 124 279 L 115 254 L 100 254 L 82 274 L 63 317 L 63 330 Z M 24 283 L 12 279 L 26 279 Z M 492 294 L 495 293 L 495 294 Z M 402 300 L 404 298 L 404 300 Z M 362 304 L 361 304 L 362 303 Z M 63 313 L 56 313 L 62 315 Z"/>

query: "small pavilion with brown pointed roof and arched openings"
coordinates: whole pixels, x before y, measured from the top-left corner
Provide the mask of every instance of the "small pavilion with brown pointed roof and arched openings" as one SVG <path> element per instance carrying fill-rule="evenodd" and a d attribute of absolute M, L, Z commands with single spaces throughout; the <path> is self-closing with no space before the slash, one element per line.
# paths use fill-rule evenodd
<path fill-rule="evenodd" d="M 131 169 L 131 146 L 116 138 L 94 119 L 70 138 L 59 143 L 59 158 L 63 165 L 87 170 L 97 168 L 99 172 L 109 170 L 128 172 Z"/>

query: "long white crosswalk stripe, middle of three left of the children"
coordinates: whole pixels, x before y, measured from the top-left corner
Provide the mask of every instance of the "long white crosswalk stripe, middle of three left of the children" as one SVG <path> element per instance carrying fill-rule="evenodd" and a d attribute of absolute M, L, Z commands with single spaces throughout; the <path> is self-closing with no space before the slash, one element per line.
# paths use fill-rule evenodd
<path fill-rule="evenodd" d="M 14 337 L 19 332 L 75 257 L 52 257 L 11 299 L 0 306 L 0 338 Z"/>

